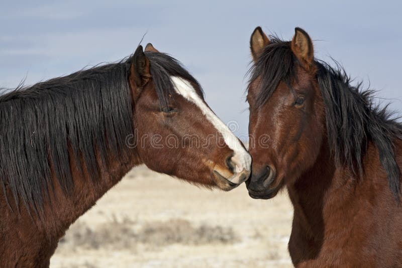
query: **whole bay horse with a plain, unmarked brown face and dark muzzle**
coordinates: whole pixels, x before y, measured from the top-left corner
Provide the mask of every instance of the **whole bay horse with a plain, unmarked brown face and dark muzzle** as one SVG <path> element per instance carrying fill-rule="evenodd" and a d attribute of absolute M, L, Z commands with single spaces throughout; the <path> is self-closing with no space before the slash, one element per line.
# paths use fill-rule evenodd
<path fill-rule="evenodd" d="M 250 40 L 252 198 L 287 189 L 297 267 L 402 266 L 402 125 L 373 91 L 291 41 L 257 27 Z M 264 137 L 264 139 L 261 139 Z"/>

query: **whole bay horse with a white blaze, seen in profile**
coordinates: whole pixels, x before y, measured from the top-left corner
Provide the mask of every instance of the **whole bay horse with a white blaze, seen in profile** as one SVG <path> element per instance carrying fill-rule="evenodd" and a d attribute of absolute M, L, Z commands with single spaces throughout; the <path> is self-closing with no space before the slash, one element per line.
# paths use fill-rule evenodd
<path fill-rule="evenodd" d="M 70 224 L 134 166 L 226 191 L 251 170 L 198 82 L 151 44 L 0 96 L 0 125 L 1 267 L 48 267 Z"/>

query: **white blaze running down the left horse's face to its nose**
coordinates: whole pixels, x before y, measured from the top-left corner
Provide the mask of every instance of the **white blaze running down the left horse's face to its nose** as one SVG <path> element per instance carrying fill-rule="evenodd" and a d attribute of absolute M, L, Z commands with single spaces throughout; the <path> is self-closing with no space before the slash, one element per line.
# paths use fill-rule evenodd
<path fill-rule="evenodd" d="M 236 164 L 236 172 L 241 172 L 243 169 L 250 171 L 251 156 L 243 148 L 233 132 L 230 131 L 229 127 L 207 106 L 188 81 L 177 76 L 171 76 L 170 78 L 176 92 L 194 103 L 203 112 L 218 132 L 221 133 L 226 145 L 233 150 L 234 156 L 232 157 L 232 161 Z"/>

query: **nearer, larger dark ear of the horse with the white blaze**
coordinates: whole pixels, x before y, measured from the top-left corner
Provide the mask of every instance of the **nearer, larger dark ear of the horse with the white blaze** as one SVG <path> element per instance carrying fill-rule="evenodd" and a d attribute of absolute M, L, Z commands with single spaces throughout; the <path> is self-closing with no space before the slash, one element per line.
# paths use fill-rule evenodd
<path fill-rule="evenodd" d="M 132 58 L 129 74 L 129 83 L 135 99 L 150 78 L 149 60 L 145 56 L 142 46 L 138 46 Z"/>

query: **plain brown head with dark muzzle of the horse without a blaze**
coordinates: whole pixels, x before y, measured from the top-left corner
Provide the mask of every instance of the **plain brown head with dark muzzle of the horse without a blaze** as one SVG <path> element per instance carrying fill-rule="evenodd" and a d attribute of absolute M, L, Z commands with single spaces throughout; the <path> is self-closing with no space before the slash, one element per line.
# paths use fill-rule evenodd
<path fill-rule="evenodd" d="M 269 40 L 256 28 L 250 40 L 253 67 L 250 105 L 253 198 L 272 198 L 317 159 L 325 128 L 313 43 L 296 28 L 290 42 Z"/>

